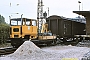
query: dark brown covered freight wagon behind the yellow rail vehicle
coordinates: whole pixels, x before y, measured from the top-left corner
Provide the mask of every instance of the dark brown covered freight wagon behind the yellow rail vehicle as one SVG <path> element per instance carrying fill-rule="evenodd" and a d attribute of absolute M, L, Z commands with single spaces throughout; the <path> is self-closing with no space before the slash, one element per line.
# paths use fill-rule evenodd
<path fill-rule="evenodd" d="M 62 16 L 52 15 L 46 19 L 48 29 L 64 41 L 74 40 L 75 35 L 85 35 L 85 23 L 77 22 Z"/>

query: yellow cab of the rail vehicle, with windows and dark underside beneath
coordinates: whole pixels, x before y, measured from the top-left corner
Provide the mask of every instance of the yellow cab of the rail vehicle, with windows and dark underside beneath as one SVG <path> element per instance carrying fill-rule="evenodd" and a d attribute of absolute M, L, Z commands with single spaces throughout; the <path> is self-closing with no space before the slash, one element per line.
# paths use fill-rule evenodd
<path fill-rule="evenodd" d="M 12 46 L 19 46 L 25 40 L 37 38 L 37 22 L 34 19 L 10 19 L 10 40 Z"/>

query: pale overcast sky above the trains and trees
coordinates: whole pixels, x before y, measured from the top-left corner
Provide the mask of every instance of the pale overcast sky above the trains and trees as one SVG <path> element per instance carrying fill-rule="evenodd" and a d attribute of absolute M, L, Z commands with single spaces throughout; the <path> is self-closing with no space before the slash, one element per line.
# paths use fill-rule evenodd
<path fill-rule="evenodd" d="M 90 10 L 90 0 L 43 0 L 44 11 L 47 11 L 47 7 L 49 7 L 50 16 L 59 15 L 74 18 L 78 15 L 72 11 L 79 10 L 78 1 L 81 1 L 80 10 Z M 19 5 L 17 6 L 17 4 Z M 36 19 L 37 0 L 0 0 L 0 14 L 5 17 L 6 22 L 9 22 L 10 15 L 12 15 L 12 17 L 20 17 L 20 15 L 23 14 L 23 17 Z"/>

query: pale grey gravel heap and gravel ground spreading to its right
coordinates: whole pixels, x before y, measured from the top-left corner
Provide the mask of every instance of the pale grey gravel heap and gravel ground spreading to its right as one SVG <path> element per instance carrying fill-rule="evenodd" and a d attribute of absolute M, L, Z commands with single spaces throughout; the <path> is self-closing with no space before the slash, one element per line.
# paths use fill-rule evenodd
<path fill-rule="evenodd" d="M 52 46 L 40 49 L 34 43 L 26 41 L 13 54 L 1 57 L 0 60 L 62 60 L 62 58 L 80 60 L 89 51 L 90 48 L 75 46 Z"/>

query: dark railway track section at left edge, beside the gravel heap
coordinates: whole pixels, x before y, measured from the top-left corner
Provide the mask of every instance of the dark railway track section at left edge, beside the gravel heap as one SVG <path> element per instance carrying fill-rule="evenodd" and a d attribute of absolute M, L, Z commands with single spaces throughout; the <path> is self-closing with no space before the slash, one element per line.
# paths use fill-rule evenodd
<path fill-rule="evenodd" d="M 14 51 L 16 51 L 16 49 L 17 48 L 13 48 L 13 47 L 0 48 L 0 56 L 11 54 Z"/>

